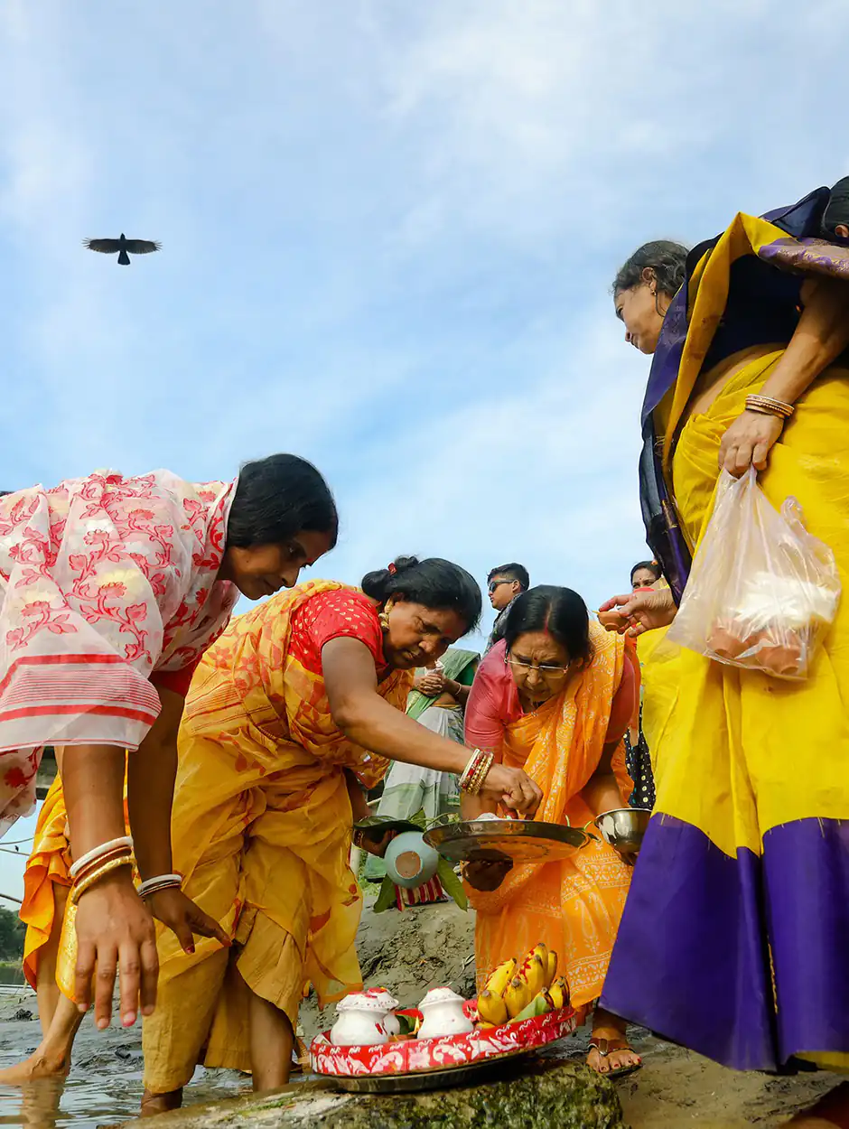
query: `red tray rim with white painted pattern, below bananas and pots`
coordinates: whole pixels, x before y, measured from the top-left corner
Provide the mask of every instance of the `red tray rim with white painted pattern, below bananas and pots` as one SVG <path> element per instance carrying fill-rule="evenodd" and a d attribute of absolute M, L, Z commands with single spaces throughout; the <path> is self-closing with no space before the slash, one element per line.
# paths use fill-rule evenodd
<path fill-rule="evenodd" d="M 374 1075 L 424 1075 L 527 1054 L 564 1039 L 575 1026 L 574 1009 L 564 1007 L 498 1027 L 476 1027 L 467 1034 L 401 1039 L 367 1047 L 334 1047 L 325 1032 L 313 1040 L 309 1057 L 316 1074 L 351 1080 Z"/>

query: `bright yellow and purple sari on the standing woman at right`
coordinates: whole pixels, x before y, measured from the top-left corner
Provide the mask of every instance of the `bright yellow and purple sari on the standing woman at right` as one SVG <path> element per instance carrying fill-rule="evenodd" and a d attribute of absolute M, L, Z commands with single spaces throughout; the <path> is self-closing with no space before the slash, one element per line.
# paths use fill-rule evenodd
<path fill-rule="evenodd" d="M 746 271 L 753 279 L 767 271 L 765 289 L 753 296 L 755 306 L 768 300 L 776 280 L 764 264 L 797 288 L 805 274 L 849 285 L 849 247 L 793 237 L 751 216 L 737 216 L 701 255 L 676 299 L 685 334 L 677 352 L 668 341 L 658 347 L 649 380 L 649 393 L 653 382 L 657 392 L 656 366 L 663 376 L 675 358 L 653 420 L 664 437 L 665 487 L 693 550 L 710 515 L 723 435 L 793 332 L 790 325 L 784 338 L 761 335 L 744 353 L 737 339 L 729 380 L 703 414 L 688 418 L 702 367 L 724 359 L 718 331 L 745 321 L 738 297 Z M 679 330 L 673 321 L 673 336 Z M 759 476 L 777 508 L 788 495 L 798 498 L 811 533 L 834 551 L 843 584 L 837 620 L 803 683 L 679 653 L 675 693 L 666 716 L 653 721 L 656 814 L 602 995 L 616 1014 L 737 1069 L 791 1069 L 799 1058 L 849 1065 L 849 369 L 842 365 L 843 358 L 799 399 Z M 672 581 L 675 566 L 673 554 Z"/>

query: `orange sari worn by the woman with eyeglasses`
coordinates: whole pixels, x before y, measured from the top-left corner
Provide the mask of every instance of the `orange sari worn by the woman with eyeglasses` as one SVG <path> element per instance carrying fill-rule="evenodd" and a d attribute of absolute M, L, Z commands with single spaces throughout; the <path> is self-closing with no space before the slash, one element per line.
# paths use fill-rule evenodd
<path fill-rule="evenodd" d="M 545 823 L 584 826 L 595 816 L 580 793 L 597 769 L 607 741 L 625 644 L 597 623 L 590 623 L 589 630 L 589 665 L 569 681 L 562 693 L 533 714 L 504 725 L 502 761 L 524 768 L 542 788 L 544 799 L 536 819 Z M 490 651 L 480 672 L 490 662 L 504 662 L 493 655 Z M 473 689 L 466 707 L 467 724 L 474 716 L 474 695 Z M 614 770 L 624 806 L 630 789 L 623 767 L 624 749 L 620 743 Z M 520 957 L 542 940 L 560 956 L 572 1006 L 580 1008 L 597 999 L 630 879 L 631 868 L 612 847 L 597 840 L 563 861 L 514 866 L 492 892 L 466 885 L 478 911 L 474 949 L 479 984 L 483 986 L 501 961 Z"/>

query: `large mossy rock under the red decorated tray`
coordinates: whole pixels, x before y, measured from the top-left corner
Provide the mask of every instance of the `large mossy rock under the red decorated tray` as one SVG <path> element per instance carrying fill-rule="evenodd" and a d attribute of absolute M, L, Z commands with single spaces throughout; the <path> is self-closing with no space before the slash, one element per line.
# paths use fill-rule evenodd
<path fill-rule="evenodd" d="M 514 1068 L 515 1069 L 515 1068 Z M 577 1064 L 541 1061 L 499 1080 L 427 1094 L 338 1094 L 304 1083 L 277 1094 L 240 1097 L 130 1121 L 137 1129 L 625 1129 L 613 1086 Z"/>

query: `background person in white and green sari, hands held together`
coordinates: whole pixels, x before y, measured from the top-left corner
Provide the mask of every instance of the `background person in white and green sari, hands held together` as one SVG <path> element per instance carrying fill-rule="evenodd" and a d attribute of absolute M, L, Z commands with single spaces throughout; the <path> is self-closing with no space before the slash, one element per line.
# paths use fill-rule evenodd
<path fill-rule="evenodd" d="M 474 650 L 449 647 L 440 659 L 415 672 L 413 689 L 406 699 L 406 716 L 440 737 L 463 744 L 463 712 L 481 656 Z M 459 781 L 452 772 L 404 764 L 395 761 L 386 774 L 377 815 L 391 820 L 422 819 L 431 823 L 440 815 L 459 811 Z M 365 876 L 380 882 L 386 865 L 376 855 L 366 860 Z M 443 887 L 435 875 L 417 890 L 396 887 L 399 907 L 424 905 L 443 900 Z"/>

